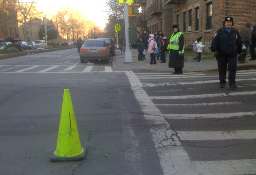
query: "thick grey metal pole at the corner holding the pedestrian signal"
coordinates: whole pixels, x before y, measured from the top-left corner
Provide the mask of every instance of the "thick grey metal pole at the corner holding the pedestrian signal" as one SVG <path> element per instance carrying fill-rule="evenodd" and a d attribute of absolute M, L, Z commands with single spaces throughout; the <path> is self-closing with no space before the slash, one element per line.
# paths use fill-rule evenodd
<path fill-rule="evenodd" d="M 132 63 L 132 52 L 130 50 L 129 43 L 129 17 L 128 17 L 128 5 L 124 4 L 124 28 L 125 28 L 125 63 Z"/>

